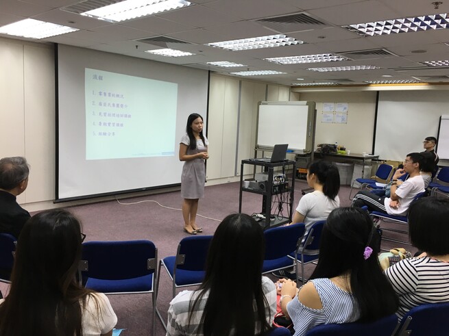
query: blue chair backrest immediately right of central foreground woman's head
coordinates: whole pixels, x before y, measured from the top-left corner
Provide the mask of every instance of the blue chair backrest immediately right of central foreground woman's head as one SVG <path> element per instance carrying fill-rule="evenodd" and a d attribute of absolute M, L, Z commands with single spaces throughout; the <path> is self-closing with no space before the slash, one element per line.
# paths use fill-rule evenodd
<path fill-rule="evenodd" d="M 304 223 L 287 225 L 287 227 L 274 227 L 265 230 L 265 260 L 273 260 L 294 253 L 301 244 L 306 231 Z"/>

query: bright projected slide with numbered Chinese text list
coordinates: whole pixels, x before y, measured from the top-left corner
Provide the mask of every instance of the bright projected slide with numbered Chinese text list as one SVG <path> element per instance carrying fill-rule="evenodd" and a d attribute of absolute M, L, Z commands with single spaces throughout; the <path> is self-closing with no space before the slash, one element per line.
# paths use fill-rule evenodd
<path fill-rule="evenodd" d="M 86 160 L 175 154 L 178 84 L 85 69 Z"/>

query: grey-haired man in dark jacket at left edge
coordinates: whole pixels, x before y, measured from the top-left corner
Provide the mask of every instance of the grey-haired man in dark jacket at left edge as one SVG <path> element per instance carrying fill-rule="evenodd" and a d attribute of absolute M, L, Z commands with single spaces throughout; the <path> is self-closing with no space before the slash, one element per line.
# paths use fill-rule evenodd
<path fill-rule="evenodd" d="M 19 237 L 29 213 L 16 202 L 27 189 L 29 168 L 25 157 L 0 159 L 0 233 Z"/>

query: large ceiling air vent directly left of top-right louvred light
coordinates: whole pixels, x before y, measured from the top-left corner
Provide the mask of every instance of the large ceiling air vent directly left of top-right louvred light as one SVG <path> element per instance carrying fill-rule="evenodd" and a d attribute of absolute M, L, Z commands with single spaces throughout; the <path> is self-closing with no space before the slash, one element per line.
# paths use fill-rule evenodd
<path fill-rule="evenodd" d="M 279 33 L 291 33 L 294 31 L 330 27 L 330 25 L 313 18 L 310 14 L 305 12 L 274 16 L 271 18 L 260 18 L 259 20 L 256 20 L 256 22 L 266 28 L 278 31 Z"/>

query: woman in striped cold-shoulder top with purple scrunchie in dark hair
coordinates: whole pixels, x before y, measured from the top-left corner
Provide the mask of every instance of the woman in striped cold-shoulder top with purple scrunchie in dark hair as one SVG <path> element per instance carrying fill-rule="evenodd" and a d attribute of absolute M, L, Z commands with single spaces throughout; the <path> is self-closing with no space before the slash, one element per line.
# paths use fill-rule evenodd
<path fill-rule="evenodd" d="M 372 322 L 398 310 L 398 296 L 380 269 L 376 234 L 366 211 L 333 210 L 323 227 L 311 281 L 282 284 L 281 307 L 302 336 L 320 324 Z"/>

